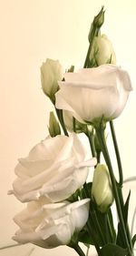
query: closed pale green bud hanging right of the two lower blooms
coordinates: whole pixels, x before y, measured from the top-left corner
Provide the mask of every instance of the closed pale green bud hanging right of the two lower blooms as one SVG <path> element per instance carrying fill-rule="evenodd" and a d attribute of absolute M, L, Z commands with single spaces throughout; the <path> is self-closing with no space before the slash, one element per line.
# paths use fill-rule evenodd
<path fill-rule="evenodd" d="M 113 194 L 109 171 L 105 165 L 98 164 L 92 180 L 92 197 L 98 209 L 105 212 L 112 205 Z"/>

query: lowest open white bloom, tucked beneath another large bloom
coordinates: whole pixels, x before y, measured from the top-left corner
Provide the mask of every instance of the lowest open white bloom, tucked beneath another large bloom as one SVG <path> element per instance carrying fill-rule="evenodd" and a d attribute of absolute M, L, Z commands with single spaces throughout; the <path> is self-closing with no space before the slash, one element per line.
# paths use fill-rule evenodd
<path fill-rule="evenodd" d="M 88 220 L 89 202 L 89 199 L 53 204 L 44 204 L 43 200 L 29 202 L 27 208 L 15 216 L 20 230 L 13 239 L 44 248 L 68 244 L 73 233 L 82 230 Z"/>

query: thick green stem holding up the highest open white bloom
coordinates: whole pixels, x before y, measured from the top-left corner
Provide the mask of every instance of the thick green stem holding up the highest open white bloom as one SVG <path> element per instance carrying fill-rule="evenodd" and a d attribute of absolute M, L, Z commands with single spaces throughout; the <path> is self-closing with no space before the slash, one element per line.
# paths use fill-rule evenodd
<path fill-rule="evenodd" d="M 122 215 L 122 212 L 121 212 L 121 202 L 120 202 L 120 198 L 119 198 L 119 194 L 118 194 L 116 179 L 115 179 L 114 174 L 113 174 L 112 162 L 111 162 L 110 155 L 109 155 L 109 152 L 108 152 L 108 148 L 107 148 L 105 138 L 104 138 L 104 129 L 97 127 L 96 128 L 96 133 L 97 133 L 97 136 L 99 138 L 100 145 L 102 147 L 102 153 L 103 153 L 104 159 L 107 163 L 107 166 L 108 166 L 108 169 L 109 169 L 109 172 L 110 172 L 110 177 L 111 177 L 111 181 L 112 181 L 113 195 L 114 195 L 114 199 L 115 199 L 115 202 L 116 202 L 116 207 L 117 207 L 119 220 L 120 220 L 120 223 L 121 223 L 121 231 L 122 231 L 126 246 L 129 250 L 129 255 L 131 256 L 132 253 L 131 253 L 131 248 L 130 248 L 130 244 L 129 244 L 128 237 L 127 237 L 127 232 L 126 232 L 126 229 L 125 229 L 123 215 Z"/>

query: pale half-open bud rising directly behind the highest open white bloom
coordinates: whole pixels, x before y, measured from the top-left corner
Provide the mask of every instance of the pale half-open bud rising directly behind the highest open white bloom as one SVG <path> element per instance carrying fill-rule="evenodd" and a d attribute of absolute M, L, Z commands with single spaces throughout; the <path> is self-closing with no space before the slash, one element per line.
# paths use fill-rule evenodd
<path fill-rule="evenodd" d="M 96 61 L 97 66 L 108 63 L 116 64 L 116 56 L 112 46 L 112 42 L 107 36 L 95 36 L 92 45 L 92 51 L 90 55 L 90 60 Z"/>

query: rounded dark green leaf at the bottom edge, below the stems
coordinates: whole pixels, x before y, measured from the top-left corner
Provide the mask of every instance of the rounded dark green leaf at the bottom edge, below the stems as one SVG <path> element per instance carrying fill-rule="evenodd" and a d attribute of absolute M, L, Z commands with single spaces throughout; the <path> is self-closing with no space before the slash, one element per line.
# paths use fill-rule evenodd
<path fill-rule="evenodd" d="M 123 249 L 118 245 L 108 243 L 102 247 L 100 256 L 126 256 L 127 249 Z"/>

